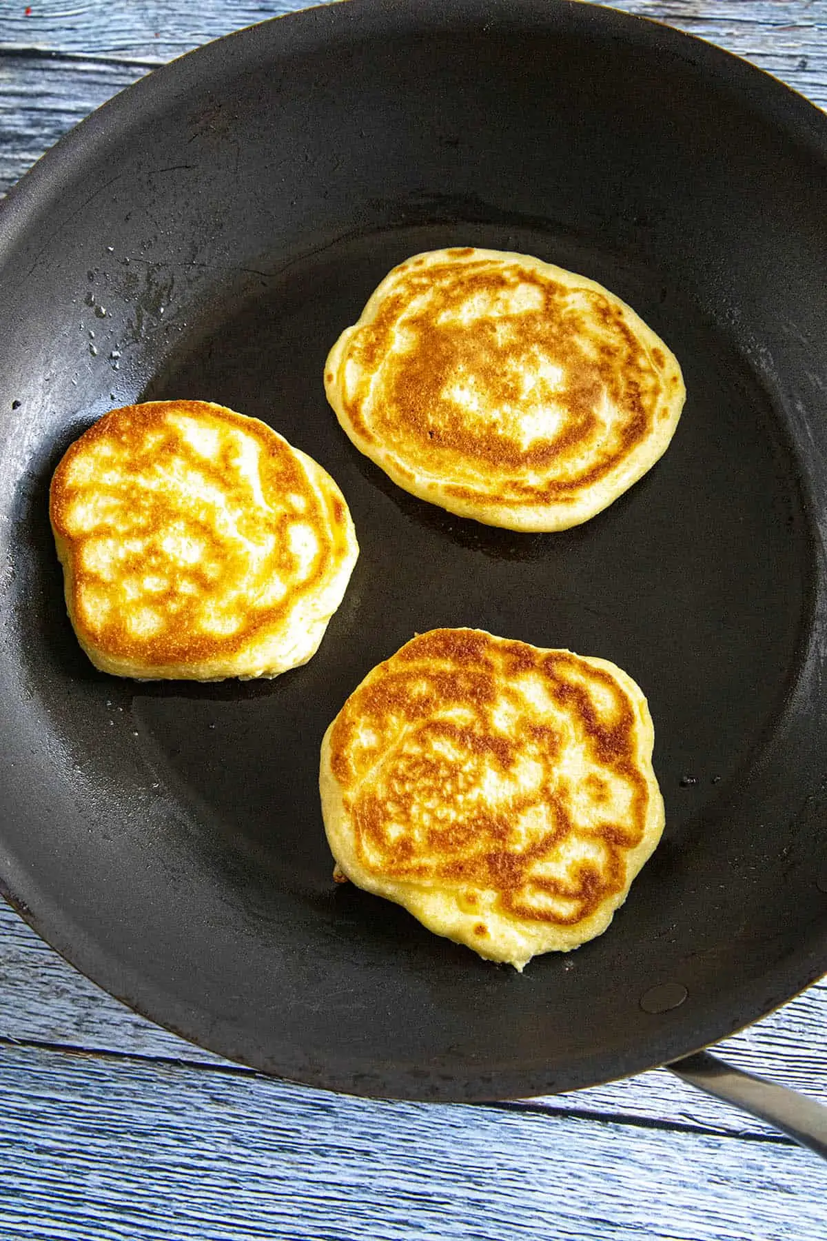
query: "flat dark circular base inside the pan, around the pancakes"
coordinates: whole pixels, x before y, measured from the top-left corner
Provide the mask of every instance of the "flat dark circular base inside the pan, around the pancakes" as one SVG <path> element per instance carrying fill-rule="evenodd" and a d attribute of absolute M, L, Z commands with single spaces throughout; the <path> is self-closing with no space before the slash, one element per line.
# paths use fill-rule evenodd
<path fill-rule="evenodd" d="M 407 495 L 351 446 L 325 402 L 327 347 L 382 274 L 409 254 L 460 242 L 588 267 L 622 287 L 679 350 L 691 400 L 672 447 L 651 478 L 575 530 L 495 530 Z M 810 555 L 777 419 L 697 310 L 670 297 L 657 273 L 622 259 L 538 232 L 455 225 L 342 242 L 222 311 L 192 325 L 193 343 L 182 343 L 146 395 L 212 393 L 314 455 L 345 491 L 361 558 L 324 650 L 304 669 L 265 688 L 222 690 L 221 709 L 180 686 L 134 695 L 159 772 L 206 799 L 234 848 L 260 850 L 286 884 L 298 872 L 325 891 L 330 855 L 316 805 L 325 728 L 362 676 L 414 633 L 472 625 L 601 655 L 640 678 L 657 724 L 666 839 L 714 813 L 795 675 Z M 710 710 L 713 695 L 725 709 Z M 301 774 L 285 782 L 299 737 Z M 242 787 L 252 797 L 239 807 Z M 381 916 L 376 901 L 365 903 L 366 916 Z"/>

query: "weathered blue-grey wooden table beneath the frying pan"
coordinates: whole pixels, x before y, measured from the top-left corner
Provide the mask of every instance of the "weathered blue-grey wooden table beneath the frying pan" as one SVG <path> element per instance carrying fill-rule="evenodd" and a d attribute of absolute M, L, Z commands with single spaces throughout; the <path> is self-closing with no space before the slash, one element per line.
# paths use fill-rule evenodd
<path fill-rule="evenodd" d="M 155 65 L 300 6 L 0 0 L 0 190 Z M 827 105 L 827 0 L 616 6 Z M 827 1102 L 827 982 L 720 1051 Z M 665 1071 L 485 1107 L 284 1085 L 135 1016 L 1 903 L 0 1113 L 0 1241 L 827 1239 L 827 1167 Z"/>

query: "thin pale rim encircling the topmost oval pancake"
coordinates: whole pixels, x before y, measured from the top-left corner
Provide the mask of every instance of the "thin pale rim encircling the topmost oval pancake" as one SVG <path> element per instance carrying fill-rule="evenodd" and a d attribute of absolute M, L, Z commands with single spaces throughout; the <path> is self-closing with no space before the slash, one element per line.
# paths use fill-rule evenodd
<path fill-rule="evenodd" d="M 428 266 L 435 266 L 436 263 L 443 262 L 453 264 L 474 263 L 479 259 L 516 262 L 520 263 L 521 267 L 533 269 L 547 279 L 554 280 L 559 284 L 565 284 L 568 288 L 591 289 L 595 293 L 609 297 L 611 302 L 624 311 L 630 328 L 646 347 L 650 356 L 653 349 L 660 349 L 662 351 L 665 356 L 665 365 L 663 367 L 657 367 L 657 370 L 660 370 L 663 377 L 665 391 L 667 385 L 670 385 L 672 376 L 677 379 L 673 396 L 668 401 L 662 402 L 662 405 L 670 410 L 670 416 L 662 419 L 658 418 L 658 411 L 655 412 L 655 427 L 646 439 L 639 444 L 629 454 L 629 457 L 624 458 L 624 460 L 620 462 L 605 479 L 590 488 L 586 488 L 583 496 L 574 501 L 542 504 L 533 508 L 531 505 L 496 504 L 486 500 L 485 493 L 482 491 L 480 493 L 479 501 L 475 501 L 445 494 L 444 485 L 439 480 L 419 479 L 415 477 L 412 478 L 410 470 L 404 465 L 400 465 L 391 452 L 383 452 L 381 446 L 365 439 L 353 427 L 347 416 L 343 401 L 343 366 L 347 362 L 351 338 L 360 331 L 361 328 L 376 319 L 379 307 L 396 283 L 397 277 L 417 259 L 425 259 L 425 264 L 419 267 L 419 273 L 424 272 Z M 332 372 L 334 376 L 330 382 L 327 381 L 329 372 Z M 472 517 L 482 525 L 502 526 L 507 530 L 528 532 L 568 530 L 572 526 L 582 525 L 590 517 L 603 513 L 603 510 L 608 509 L 610 504 L 614 504 L 614 501 L 619 499 L 624 491 L 627 491 L 629 488 L 642 478 L 643 474 L 646 474 L 647 470 L 650 470 L 652 465 L 663 455 L 670 446 L 670 442 L 672 441 L 672 437 L 674 436 L 681 418 L 681 412 L 683 410 L 683 403 L 686 401 L 683 374 L 672 350 L 655 331 L 652 331 L 648 324 L 646 324 L 630 305 L 627 305 L 605 285 L 589 279 L 586 276 L 579 276 L 574 272 L 567 271 L 565 268 L 555 267 L 553 263 L 544 263 L 542 259 L 534 258 L 531 254 L 520 254 L 516 251 L 476 248 L 472 254 L 467 256 L 454 256 L 445 249 L 425 251 L 420 254 L 412 254 L 404 261 L 404 263 L 398 263 L 397 267 L 388 272 L 382 283 L 371 294 L 357 323 L 346 328 L 340 335 L 338 340 L 327 355 L 324 379 L 327 401 L 351 443 L 353 443 L 365 457 L 368 457 L 382 470 L 384 470 L 388 478 L 391 478 L 392 482 L 394 482 L 404 491 L 418 496 L 420 500 L 428 500 L 430 504 L 439 505 L 439 508 L 445 509 L 448 513 L 455 513 L 460 517 Z"/>

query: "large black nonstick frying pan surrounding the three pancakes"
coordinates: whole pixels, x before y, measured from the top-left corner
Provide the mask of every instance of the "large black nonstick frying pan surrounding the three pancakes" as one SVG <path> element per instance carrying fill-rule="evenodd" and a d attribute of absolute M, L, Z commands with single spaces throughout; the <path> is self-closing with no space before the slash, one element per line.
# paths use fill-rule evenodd
<path fill-rule="evenodd" d="M 0 876 L 30 923 L 213 1051 L 420 1100 L 635 1073 L 822 974 L 826 204 L 803 99 L 557 0 L 309 10 L 61 141 L 0 211 Z M 450 244 L 600 280 L 682 362 L 667 454 L 584 526 L 518 535 L 415 500 L 326 407 L 338 331 L 392 264 Z M 305 668 L 153 685 L 82 655 L 51 472 L 105 410 L 160 397 L 263 418 L 341 485 L 362 553 Z M 655 719 L 662 844 L 606 934 L 522 977 L 331 881 L 322 732 L 436 625 L 611 659 Z"/>

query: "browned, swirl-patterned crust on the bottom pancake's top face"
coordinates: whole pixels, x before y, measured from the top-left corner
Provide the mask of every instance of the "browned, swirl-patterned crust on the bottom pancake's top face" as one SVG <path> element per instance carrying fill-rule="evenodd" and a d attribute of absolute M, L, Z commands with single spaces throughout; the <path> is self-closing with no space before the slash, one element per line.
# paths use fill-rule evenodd
<path fill-rule="evenodd" d="M 640 849 L 662 803 L 650 766 L 651 722 L 647 714 L 641 720 L 640 704 L 619 679 L 627 680 L 625 674 L 609 668 L 614 665 L 475 629 L 431 630 L 377 665 L 329 731 L 329 767 L 360 867 L 400 887 L 467 885 L 461 897 L 467 910 L 474 910 L 476 892 L 493 891 L 495 910 L 533 923 L 574 927 L 601 906 L 616 907 L 630 882 L 629 855 Z M 590 824 L 573 818 L 572 789 L 559 767 L 563 738 L 551 717 L 527 720 L 516 738 L 497 728 L 492 709 L 503 685 L 507 694 L 508 681 L 526 673 L 542 680 L 594 766 L 629 791 L 624 822 L 611 814 L 596 814 Z M 376 738 L 371 745 L 361 740 L 366 732 Z M 460 753 L 462 763 L 440 750 Z M 458 812 L 482 764 L 507 778 L 526 751 L 543 764 L 539 789 L 515 795 L 501 813 L 485 804 Z M 599 808 L 605 782 L 601 787 L 599 774 L 588 779 L 590 804 Z M 527 841 L 515 824 L 533 808 L 549 827 Z M 543 872 L 573 833 L 599 841 L 604 864 L 585 861 L 565 877 Z M 567 907 L 552 907 L 543 897 L 562 898 Z M 479 926 L 484 930 L 475 927 L 475 934 L 487 934 L 485 923 Z"/>

